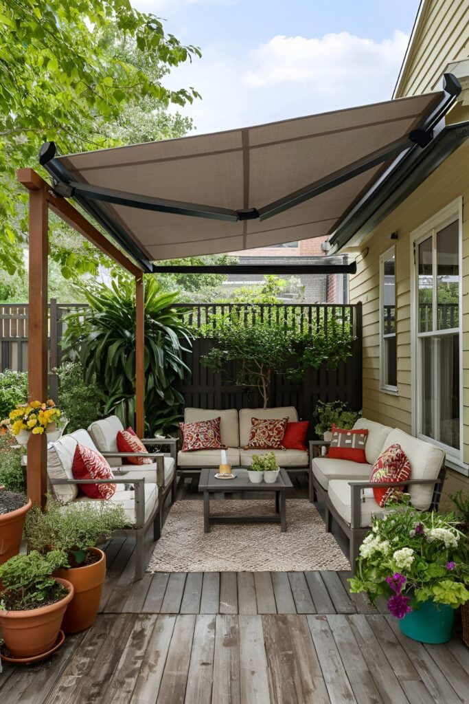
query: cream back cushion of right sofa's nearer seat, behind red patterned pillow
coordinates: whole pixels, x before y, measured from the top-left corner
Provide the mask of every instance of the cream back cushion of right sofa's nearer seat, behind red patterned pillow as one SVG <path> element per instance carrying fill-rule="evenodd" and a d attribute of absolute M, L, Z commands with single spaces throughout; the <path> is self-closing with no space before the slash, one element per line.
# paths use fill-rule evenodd
<path fill-rule="evenodd" d="M 444 452 L 435 445 L 414 438 L 404 430 L 394 428 L 386 440 L 386 447 L 399 443 L 411 463 L 411 479 L 436 479 L 444 461 Z M 411 484 L 411 503 L 420 511 L 426 511 L 432 503 L 435 486 L 432 484 Z"/>

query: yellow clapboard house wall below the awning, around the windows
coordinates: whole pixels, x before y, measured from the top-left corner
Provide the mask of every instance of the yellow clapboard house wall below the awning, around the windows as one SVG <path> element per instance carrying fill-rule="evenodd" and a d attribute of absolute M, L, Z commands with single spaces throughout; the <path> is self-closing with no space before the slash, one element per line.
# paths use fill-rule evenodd
<path fill-rule="evenodd" d="M 406 432 L 412 429 L 411 401 L 411 232 L 451 201 L 463 198 L 463 459 L 469 463 L 469 146 L 461 146 L 381 224 L 361 241 L 356 275 L 350 277 L 350 303 L 363 304 L 363 413 Z M 391 241 L 391 232 L 399 239 Z M 379 260 L 396 247 L 397 387 L 380 391 Z M 345 251 L 347 251 L 345 249 Z M 450 470 L 445 491 L 464 488 L 469 479 Z M 444 503 L 443 503 L 444 505 Z"/>

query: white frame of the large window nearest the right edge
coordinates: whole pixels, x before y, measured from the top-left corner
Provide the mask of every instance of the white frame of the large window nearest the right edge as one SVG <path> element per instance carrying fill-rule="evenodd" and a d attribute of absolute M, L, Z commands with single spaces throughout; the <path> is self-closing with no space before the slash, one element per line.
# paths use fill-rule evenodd
<path fill-rule="evenodd" d="M 420 432 L 421 421 L 422 421 L 422 400 L 421 400 L 421 388 L 422 388 L 422 365 L 420 363 L 420 347 L 418 345 L 418 339 L 420 337 L 425 337 L 425 333 L 418 332 L 418 261 L 417 261 L 417 249 L 418 244 L 428 239 L 428 237 L 434 237 L 436 232 L 442 230 L 446 225 L 450 225 L 454 220 L 458 221 L 458 265 L 459 265 L 459 315 L 458 315 L 458 327 L 451 328 L 449 330 L 441 330 L 440 334 L 454 334 L 458 332 L 459 335 L 459 448 L 450 447 L 442 442 L 425 436 Z M 422 223 L 416 230 L 411 232 L 411 399 L 412 399 L 412 434 L 420 439 L 428 440 L 433 445 L 442 448 L 446 453 L 446 465 L 463 472 L 463 474 L 468 474 L 468 465 L 463 463 L 463 413 L 464 413 L 464 398 L 463 398 L 463 199 L 458 197 L 456 200 L 449 203 L 446 207 L 439 210 L 438 213 L 432 215 L 431 218 Z M 436 250 L 433 249 L 433 272 L 435 275 L 435 265 L 436 265 Z M 433 311 L 435 315 L 435 301 L 433 306 Z M 432 326 L 435 327 L 435 326 Z M 436 330 L 427 333 L 428 336 L 432 337 L 435 335 Z M 437 372 L 435 372 L 437 373 Z"/>

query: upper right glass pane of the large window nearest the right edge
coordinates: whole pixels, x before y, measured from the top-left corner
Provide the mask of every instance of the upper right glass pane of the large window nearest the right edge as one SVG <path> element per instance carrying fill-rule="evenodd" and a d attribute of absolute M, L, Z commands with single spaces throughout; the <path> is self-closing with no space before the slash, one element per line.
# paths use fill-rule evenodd
<path fill-rule="evenodd" d="M 437 232 L 438 329 L 459 326 L 459 235 L 458 221 Z"/>

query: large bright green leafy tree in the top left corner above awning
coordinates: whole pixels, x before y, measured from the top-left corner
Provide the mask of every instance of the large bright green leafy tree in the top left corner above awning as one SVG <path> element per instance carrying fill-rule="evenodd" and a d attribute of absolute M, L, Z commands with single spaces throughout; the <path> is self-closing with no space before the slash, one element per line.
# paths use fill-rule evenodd
<path fill-rule="evenodd" d="M 170 91 L 161 81 L 192 56 L 197 47 L 165 34 L 129 0 L 0 0 L 0 258 L 8 272 L 23 267 L 27 232 L 16 169 L 37 168 L 46 140 L 62 153 L 119 143 L 106 124 L 127 105 L 192 101 L 194 89 Z M 93 269 L 96 254 L 88 254 L 75 266 Z"/>

